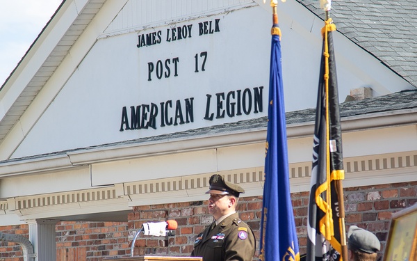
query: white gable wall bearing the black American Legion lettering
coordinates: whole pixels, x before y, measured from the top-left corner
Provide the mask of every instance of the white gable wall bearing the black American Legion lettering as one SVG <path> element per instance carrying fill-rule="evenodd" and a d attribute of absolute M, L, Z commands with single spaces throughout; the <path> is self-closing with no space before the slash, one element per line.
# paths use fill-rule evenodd
<path fill-rule="evenodd" d="M 223 2 L 129 0 L 115 16 L 97 15 L 67 56 L 79 63 L 62 63 L 38 95 L 49 105 L 17 138 L 12 157 L 266 116 L 270 7 Z M 286 110 L 314 107 L 323 22 L 295 1 L 279 4 L 279 20 Z M 375 95 L 407 88 L 338 33 L 335 46 L 342 101 L 352 88 L 368 86 Z"/>

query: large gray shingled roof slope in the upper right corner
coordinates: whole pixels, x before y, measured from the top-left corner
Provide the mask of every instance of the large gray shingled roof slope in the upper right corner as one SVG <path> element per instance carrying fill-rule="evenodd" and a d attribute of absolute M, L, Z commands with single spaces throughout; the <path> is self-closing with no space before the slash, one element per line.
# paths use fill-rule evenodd
<path fill-rule="evenodd" d="M 321 19 L 320 1 L 297 0 Z M 332 1 L 330 17 L 343 33 L 417 87 L 417 1 Z"/>

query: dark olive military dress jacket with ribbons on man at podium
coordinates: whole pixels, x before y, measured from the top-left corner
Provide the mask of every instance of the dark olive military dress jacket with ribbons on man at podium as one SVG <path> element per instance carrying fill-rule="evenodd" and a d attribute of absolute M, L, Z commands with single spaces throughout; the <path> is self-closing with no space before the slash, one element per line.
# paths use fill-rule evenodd
<path fill-rule="evenodd" d="M 213 230 L 208 226 L 197 235 L 191 256 L 202 257 L 203 261 L 252 261 L 255 244 L 254 232 L 235 213 Z"/>

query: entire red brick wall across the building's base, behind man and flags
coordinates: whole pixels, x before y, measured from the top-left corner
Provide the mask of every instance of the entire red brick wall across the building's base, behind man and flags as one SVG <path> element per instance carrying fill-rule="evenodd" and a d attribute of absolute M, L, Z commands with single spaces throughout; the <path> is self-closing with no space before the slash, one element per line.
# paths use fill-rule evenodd
<path fill-rule="evenodd" d="M 357 225 L 377 235 L 382 251 L 388 236 L 391 214 L 417 203 L 417 182 L 347 188 L 344 192 L 346 225 Z M 293 193 L 295 226 L 300 253 L 306 251 L 306 222 L 309 193 Z M 213 221 L 206 213 L 207 201 L 133 207 L 128 222 L 60 222 L 56 226 L 57 260 L 98 261 L 106 256 L 130 255 L 129 243 L 142 223 L 174 219 L 178 222 L 175 237 L 141 235 L 134 255 L 189 255 L 194 237 Z M 262 197 L 240 198 L 240 219 L 247 222 L 259 239 Z M 0 232 L 28 235 L 28 226 L 0 226 Z M 256 256 L 259 254 L 257 242 Z M 380 253 L 381 255 L 381 253 Z M 17 244 L 0 243 L 0 261 L 23 261 Z"/>

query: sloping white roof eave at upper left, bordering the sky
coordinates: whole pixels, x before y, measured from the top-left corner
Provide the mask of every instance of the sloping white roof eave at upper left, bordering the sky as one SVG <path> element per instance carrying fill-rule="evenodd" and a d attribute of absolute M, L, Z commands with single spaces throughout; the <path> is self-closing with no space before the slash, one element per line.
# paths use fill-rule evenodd
<path fill-rule="evenodd" d="M 65 0 L 0 89 L 0 143 L 54 74 L 106 0 Z M 92 5 L 92 8 L 88 8 Z M 87 18 L 86 18 L 87 17 Z M 86 22 L 87 21 L 87 22 Z"/>

